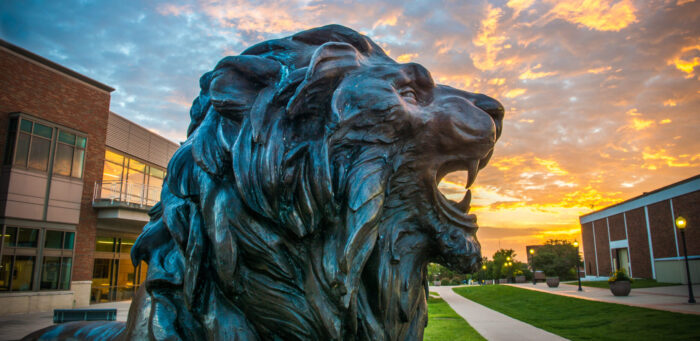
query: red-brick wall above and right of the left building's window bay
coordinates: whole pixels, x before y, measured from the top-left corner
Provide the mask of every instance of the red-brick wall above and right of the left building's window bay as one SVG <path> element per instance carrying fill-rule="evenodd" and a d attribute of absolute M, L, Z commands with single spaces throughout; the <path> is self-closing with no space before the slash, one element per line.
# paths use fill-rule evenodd
<path fill-rule="evenodd" d="M 73 280 L 92 279 L 97 214 L 93 184 L 102 176 L 110 94 L 0 47 L 0 141 L 4 153 L 8 114 L 24 112 L 87 133 Z M 2 157 L 0 156 L 0 160 Z"/>

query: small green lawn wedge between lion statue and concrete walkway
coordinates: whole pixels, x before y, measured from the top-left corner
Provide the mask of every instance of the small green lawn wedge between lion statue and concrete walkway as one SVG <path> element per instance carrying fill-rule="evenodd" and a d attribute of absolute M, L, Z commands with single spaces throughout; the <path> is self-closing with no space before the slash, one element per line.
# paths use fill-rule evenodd
<path fill-rule="evenodd" d="M 425 341 L 486 340 L 441 298 L 428 298 Z"/>

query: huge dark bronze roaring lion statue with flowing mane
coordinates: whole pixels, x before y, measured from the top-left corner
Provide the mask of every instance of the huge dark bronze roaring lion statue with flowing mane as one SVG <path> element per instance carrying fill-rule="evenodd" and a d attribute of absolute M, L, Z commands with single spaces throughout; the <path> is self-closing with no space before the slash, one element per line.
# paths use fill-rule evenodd
<path fill-rule="evenodd" d="M 30 338 L 422 339 L 428 262 L 481 258 L 470 192 L 437 185 L 474 182 L 501 104 L 337 25 L 226 57 L 200 86 L 132 249 L 149 267 L 128 322 Z"/>

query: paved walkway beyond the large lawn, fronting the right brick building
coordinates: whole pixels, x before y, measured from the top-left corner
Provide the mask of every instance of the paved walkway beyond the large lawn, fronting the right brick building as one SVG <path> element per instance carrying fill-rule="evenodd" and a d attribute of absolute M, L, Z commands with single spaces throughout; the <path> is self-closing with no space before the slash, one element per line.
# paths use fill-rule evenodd
<path fill-rule="evenodd" d="M 563 283 L 560 284 L 558 288 L 550 288 L 546 283 L 538 283 L 536 285 L 532 285 L 532 283 L 507 285 L 591 301 L 626 304 L 636 307 L 700 315 L 700 304 L 688 303 L 687 285 L 632 289 L 629 296 L 614 296 L 610 292 L 610 289 L 585 286 L 583 287 L 583 292 L 580 292 L 578 291 L 578 285 Z M 693 285 L 693 292 L 700 293 L 700 285 Z M 697 299 L 696 297 L 696 300 Z"/>

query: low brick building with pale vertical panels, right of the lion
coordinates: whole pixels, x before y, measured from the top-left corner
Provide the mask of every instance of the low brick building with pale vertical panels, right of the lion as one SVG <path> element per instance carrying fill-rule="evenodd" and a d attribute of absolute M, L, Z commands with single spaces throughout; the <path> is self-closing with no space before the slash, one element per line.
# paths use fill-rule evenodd
<path fill-rule="evenodd" d="M 700 175 L 579 217 L 587 276 L 625 269 L 633 277 L 687 283 L 685 231 L 693 283 L 700 283 Z"/>

